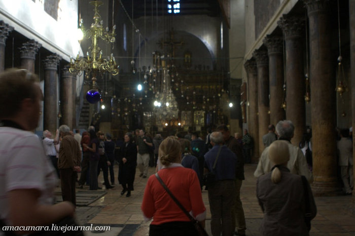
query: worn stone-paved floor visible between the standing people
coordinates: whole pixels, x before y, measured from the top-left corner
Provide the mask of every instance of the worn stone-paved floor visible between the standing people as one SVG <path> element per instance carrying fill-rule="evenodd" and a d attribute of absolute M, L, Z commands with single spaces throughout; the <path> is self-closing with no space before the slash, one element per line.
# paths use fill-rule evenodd
<path fill-rule="evenodd" d="M 243 203 L 246 219 L 246 235 L 260 235 L 258 229 L 263 218 L 263 213 L 256 199 L 256 179 L 253 172 L 255 164 L 245 165 L 245 181 L 241 187 L 241 201 Z M 149 174 L 153 174 L 155 168 L 150 168 Z M 115 174 L 117 174 L 117 166 Z M 129 198 L 120 195 L 122 187 L 116 185 L 108 189 L 94 203 L 86 207 L 78 207 L 76 216 L 82 225 L 111 226 L 111 230 L 88 230 L 86 235 L 149 235 L 149 223 L 145 223 L 140 211 L 141 200 L 147 179 L 138 177 L 138 171 L 134 182 L 134 191 Z M 100 175 L 102 178 L 102 176 Z M 84 186 L 84 190 L 88 186 Z M 207 191 L 202 191 L 203 201 L 207 208 L 206 230 L 210 234 L 210 212 L 207 199 Z M 355 235 L 355 211 L 351 204 L 351 195 L 316 197 L 317 216 L 312 220 L 310 235 Z"/>

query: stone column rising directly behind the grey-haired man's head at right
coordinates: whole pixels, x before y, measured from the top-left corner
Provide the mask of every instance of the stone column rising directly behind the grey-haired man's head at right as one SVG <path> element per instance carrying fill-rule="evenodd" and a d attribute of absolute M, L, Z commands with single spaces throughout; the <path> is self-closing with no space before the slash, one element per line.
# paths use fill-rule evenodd
<path fill-rule="evenodd" d="M 304 18 L 283 15 L 277 22 L 285 35 L 286 119 L 295 125 L 292 144 L 298 146 L 306 130 L 305 82 L 303 71 Z"/>

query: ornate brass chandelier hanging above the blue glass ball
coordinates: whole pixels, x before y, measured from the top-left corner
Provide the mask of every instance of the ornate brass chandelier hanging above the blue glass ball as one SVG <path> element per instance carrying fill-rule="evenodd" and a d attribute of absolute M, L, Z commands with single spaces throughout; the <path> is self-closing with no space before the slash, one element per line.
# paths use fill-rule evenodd
<path fill-rule="evenodd" d="M 83 19 L 80 22 L 80 29 L 83 32 L 83 36 L 87 39 L 91 38 L 91 46 L 89 52 L 86 53 L 86 57 L 80 58 L 79 53 L 75 59 L 70 57 L 69 72 L 78 74 L 85 71 L 86 76 L 89 77 L 92 73 L 92 87 L 96 90 L 96 75 L 97 73 L 109 72 L 112 75 L 117 75 L 119 72 L 119 66 L 116 64 L 115 57 L 111 53 L 111 57 L 108 59 L 102 58 L 102 50 L 98 47 L 98 40 L 101 39 L 106 43 L 114 43 L 116 25 L 113 26 L 111 32 L 109 27 L 106 31 L 103 30 L 103 21 L 98 13 L 98 7 L 103 3 L 100 1 L 92 1 L 90 5 L 94 7 L 94 23 L 91 24 L 89 29 L 85 29 L 83 26 Z M 90 92 L 90 91 L 89 91 Z"/>

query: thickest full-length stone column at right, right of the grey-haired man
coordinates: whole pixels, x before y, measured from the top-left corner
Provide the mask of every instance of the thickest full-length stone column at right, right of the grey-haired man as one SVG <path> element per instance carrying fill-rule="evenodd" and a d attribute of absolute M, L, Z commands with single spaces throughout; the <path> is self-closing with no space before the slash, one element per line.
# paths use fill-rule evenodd
<path fill-rule="evenodd" d="M 340 190 L 336 159 L 335 60 L 331 58 L 328 0 L 304 0 L 309 18 L 310 90 L 312 115 L 312 184 L 315 195 Z"/>

